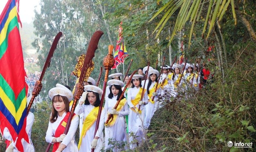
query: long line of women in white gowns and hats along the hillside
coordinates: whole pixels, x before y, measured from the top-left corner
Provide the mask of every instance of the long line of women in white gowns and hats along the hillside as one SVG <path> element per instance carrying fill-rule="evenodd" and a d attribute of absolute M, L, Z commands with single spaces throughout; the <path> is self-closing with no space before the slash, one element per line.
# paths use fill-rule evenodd
<path fill-rule="evenodd" d="M 207 83 L 210 73 L 207 72 L 206 65 L 202 68 L 200 71 L 199 65 L 193 63 L 173 63 L 162 65 L 161 71 L 148 65 L 138 68 L 138 72 L 132 75 L 128 74 L 128 70 L 125 76 L 114 73 L 108 75 L 105 91 L 96 86 L 94 78 L 88 77 L 83 82 L 84 90 L 75 107 L 67 134 L 64 131 L 71 114 L 74 95 L 69 86 L 56 84 L 48 92 L 52 111 L 49 114 L 45 141 L 50 146 L 53 145 L 54 152 L 89 152 L 92 149 L 97 152 L 110 149 L 121 151 L 137 148 L 147 139 L 147 130 L 157 109 L 165 102 L 172 102 L 170 97 L 180 98 L 180 94 L 187 97 L 188 90 L 199 91 Z M 103 92 L 104 106 L 100 109 Z M 30 98 L 27 100 L 29 102 Z M 26 131 L 30 137 L 33 113 L 29 112 L 27 122 Z M 75 140 L 77 128 L 79 141 Z M 3 137 L 10 143 L 6 152 L 18 151 L 8 130 L 4 131 Z M 24 151 L 36 151 L 31 139 L 29 143 L 22 144 Z"/>

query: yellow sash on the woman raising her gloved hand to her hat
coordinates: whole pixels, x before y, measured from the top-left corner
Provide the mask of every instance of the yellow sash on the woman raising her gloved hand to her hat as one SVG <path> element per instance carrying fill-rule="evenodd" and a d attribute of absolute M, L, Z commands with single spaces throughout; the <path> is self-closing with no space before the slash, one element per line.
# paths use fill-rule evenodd
<path fill-rule="evenodd" d="M 80 149 L 82 138 L 84 138 L 84 136 L 86 135 L 86 132 L 91 128 L 92 124 L 97 120 L 99 108 L 100 106 L 94 107 L 92 111 L 85 117 L 81 137 L 78 143 L 78 149 Z"/>

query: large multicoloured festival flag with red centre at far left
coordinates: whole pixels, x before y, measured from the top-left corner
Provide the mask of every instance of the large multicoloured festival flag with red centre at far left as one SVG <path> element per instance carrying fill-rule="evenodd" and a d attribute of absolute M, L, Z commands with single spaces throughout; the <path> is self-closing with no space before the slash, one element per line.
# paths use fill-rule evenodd
<path fill-rule="evenodd" d="M 26 132 L 26 72 L 19 32 L 19 0 L 9 0 L 0 16 L 0 131 L 8 129 L 15 147 L 23 152 Z"/>

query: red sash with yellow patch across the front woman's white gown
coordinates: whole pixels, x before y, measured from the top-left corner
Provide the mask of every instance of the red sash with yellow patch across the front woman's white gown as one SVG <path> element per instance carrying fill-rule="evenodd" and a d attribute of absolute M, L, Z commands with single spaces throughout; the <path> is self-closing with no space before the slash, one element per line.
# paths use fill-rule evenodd
<path fill-rule="evenodd" d="M 70 112 L 68 112 L 67 115 L 64 117 L 64 119 L 60 122 L 58 128 L 57 128 L 56 131 L 55 131 L 54 137 L 58 138 L 58 137 L 60 137 L 61 134 L 64 133 L 65 128 L 66 128 L 66 124 L 67 124 L 67 122 L 68 122 L 69 114 L 70 114 Z M 73 117 L 74 117 L 75 115 L 76 115 L 76 114 L 74 114 Z M 52 151 L 55 152 L 55 151 L 59 148 L 59 145 L 60 145 L 59 142 L 55 142 L 55 143 L 53 144 L 53 149 L 52 149 Z"/>

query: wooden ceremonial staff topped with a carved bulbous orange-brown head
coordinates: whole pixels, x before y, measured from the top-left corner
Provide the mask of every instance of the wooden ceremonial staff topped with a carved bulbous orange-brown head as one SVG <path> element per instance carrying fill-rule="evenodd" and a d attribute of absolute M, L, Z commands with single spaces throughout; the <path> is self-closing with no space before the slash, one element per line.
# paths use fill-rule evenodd
<path fill-rule="evenodd" d="M 114 60 L 114 57 L 112 55 L 113 49 L 114 49 L 113 45 L 108 45 L 108 55 L 105 56 L 104 59 L 103 59 L 103 66 L 104 66 L 104 69 L 106 70 L 106 73 L 105 73 L 105 78 L 104 78 L 104 83 L 103 83 L 103 88 L 102 88 L 103 93 L 102 93 L 101 99 L 100 99 L 100 108 L 99 108 L 96 127 L 95 127 L 95 131 L 94 131 L 94 137 L 97 133 L 97 130 L 98 130 L 99 124 L 100 124 L 100 115 L 101 115 L 101 109 L 102 109 L 102 106 L 103 106 L 104 96 L 105 96 L 105 92 L 106 92 L 106 85 L 107 85 L 107 81 L 108 81 L 108 72 L 114 66 L 114 61 L 115 60 Z M 94 148 L 92 148 L 92 152 L 94 152 Z"/>

